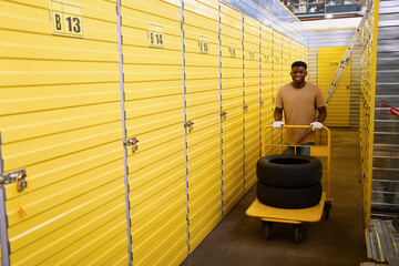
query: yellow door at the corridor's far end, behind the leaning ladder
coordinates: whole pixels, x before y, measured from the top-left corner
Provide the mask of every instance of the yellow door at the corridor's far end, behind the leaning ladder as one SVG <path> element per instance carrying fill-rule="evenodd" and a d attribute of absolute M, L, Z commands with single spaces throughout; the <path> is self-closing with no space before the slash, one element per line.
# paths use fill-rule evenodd
<path fill-rule="evenodd" d="M 319 48 L 317 59 L 318 85 L 326 95 L 346 47 Z M 328 105 L 327 126 L 349 126 L 350 109 L 350 64 L 346 69 L 336 92 Z"/>

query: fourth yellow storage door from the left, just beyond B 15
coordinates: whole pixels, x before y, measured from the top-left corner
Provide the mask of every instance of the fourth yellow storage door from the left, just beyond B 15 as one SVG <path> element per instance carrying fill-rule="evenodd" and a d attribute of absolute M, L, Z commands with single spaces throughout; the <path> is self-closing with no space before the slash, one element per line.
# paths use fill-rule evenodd
<path fill-rule="evenodd" d="M 244 195 L 243 17 L 221 4 L 223 211 Z"/>

